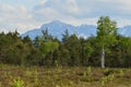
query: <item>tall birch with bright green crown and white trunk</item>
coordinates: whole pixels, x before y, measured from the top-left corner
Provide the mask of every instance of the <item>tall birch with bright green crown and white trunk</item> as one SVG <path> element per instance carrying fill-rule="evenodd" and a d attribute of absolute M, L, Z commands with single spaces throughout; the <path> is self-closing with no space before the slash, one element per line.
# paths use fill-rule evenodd
<path fill-rule="evenodd" d="M 116 42 L 117 23 L 108 16 L 100 16 L 97 22 L 97 42 L 102 48 L 100 65 L 105 67 L 105 48 Z"/>

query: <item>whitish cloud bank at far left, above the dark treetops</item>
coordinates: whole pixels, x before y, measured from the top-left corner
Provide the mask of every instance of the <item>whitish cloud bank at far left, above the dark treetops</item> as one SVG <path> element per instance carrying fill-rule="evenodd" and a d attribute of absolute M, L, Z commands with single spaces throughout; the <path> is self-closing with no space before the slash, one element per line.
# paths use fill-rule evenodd
<path fill-rule="evenodd" d="M 24 5 L 0 4 L 0 32 L 17 29 L 23 33 L 36 25 L 37 23 Z"/>

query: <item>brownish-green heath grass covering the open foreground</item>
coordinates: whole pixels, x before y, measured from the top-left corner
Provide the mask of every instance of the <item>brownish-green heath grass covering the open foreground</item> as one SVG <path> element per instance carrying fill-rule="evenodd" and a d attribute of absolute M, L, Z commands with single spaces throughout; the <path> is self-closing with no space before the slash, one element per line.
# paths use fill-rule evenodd
<path fill-rule="evenodd" d="M 14 87 L 21 87 L 16 84 L 24 87 L 131 87 L 131 69 L 1 65 L 0 87 L 13 87 L 12 84 Z"/>

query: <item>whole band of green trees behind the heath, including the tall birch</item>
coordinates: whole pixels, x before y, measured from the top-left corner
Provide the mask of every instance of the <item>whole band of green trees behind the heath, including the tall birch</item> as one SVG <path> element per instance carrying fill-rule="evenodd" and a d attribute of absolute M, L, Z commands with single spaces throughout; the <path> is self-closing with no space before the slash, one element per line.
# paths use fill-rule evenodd
<path fill-rule="evenodd" d="M 100 16 L 97 35 L 88 38 L 70 35 L 52 37 L 48 29 L 32 40 L 17 32 L 0 33 L 0 63 L 40 66 L 131 66 L 131 37 L 117 33 L 117 23 Z"/>

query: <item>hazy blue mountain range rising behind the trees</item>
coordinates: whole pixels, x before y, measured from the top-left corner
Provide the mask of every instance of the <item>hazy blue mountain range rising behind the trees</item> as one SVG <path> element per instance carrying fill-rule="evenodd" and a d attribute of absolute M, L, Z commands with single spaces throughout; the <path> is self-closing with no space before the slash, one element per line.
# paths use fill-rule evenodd
<path fill-rule="evenodd" d="M 21 37 L 29 36 L 31 39 L 35 39 L 35 37 L 43 35 L 43 30 L 48 28 L 49 35 L 57 37 L 59 39 L 62 38 L 62 34 L 64 34 L 66 29 L 68 29 L 69 34 L 78 34 L 79 37 L 87 38 L 91 35 L 96 36 L 96 26 L 82 24 L 81 26 L 73 26 L 71 24 L 62 23 L 60 21 L 52 21 L 47 24 L 43 24 L 39 28 L 31 29 L 21 35 Z M 118 29 L 120 35 L 130 37 L 131 36 L 131 25 L 120 27 Z"/>

